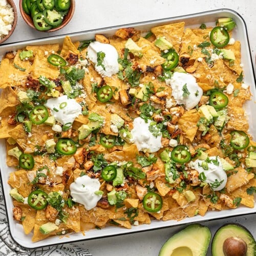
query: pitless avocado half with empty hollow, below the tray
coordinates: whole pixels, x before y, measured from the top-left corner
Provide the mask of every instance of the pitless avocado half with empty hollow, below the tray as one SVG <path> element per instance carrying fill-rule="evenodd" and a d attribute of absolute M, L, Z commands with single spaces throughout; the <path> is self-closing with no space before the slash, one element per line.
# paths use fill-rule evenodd
<path fill-rule="evenodd" d="M 159 256 L 204 256 L 211 239 L 208 227 L 191 224 L 169 238 L 159 251 Z"/>

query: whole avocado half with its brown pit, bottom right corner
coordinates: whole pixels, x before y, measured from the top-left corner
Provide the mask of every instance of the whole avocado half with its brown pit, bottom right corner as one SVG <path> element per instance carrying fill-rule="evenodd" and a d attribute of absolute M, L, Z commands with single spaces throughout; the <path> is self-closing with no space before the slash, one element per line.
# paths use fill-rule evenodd
<path fill-rule="evenodd" d="M 235 241 L 231 241 L 234 239 Z M 231 244 L 230 244 L 231 243 Z M 237 246 L 232 246 L 236 243 Z M 246 244 L 246 245 L 245 245 Z M 247 248 L 246 248 L 247 247 Z M 229 250 L 227 250 L 229 248 Z M 236 250 L 232 251 L 233 248 Z M 237 250 L 243 249 L 240 253 Z M 252 234 L 244 226 L 239 224 L 226 224 L 215 233 L 211 243 L 212 256 L 224 255 L 255 255 L 256 242 Z"/>

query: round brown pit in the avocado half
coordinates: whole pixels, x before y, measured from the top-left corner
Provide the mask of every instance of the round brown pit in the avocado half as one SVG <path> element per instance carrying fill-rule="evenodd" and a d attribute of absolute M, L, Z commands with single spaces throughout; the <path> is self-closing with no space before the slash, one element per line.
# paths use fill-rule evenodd
<path fill-rule="evenodd" d="M 247 244 L 241 238 L 229 237 L 223 243 L 223 253 L 225 256 L 245 256 Z"/>

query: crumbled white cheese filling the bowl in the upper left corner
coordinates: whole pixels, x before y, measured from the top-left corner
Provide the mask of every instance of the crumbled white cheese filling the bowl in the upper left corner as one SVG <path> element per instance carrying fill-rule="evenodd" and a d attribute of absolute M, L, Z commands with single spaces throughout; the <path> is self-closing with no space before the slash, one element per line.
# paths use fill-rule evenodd
<path fill-rule="evenodd" d="M 9 34 L 14 22 L 14 11 L 6 0 L 0 0 L 0 40 Z"/>

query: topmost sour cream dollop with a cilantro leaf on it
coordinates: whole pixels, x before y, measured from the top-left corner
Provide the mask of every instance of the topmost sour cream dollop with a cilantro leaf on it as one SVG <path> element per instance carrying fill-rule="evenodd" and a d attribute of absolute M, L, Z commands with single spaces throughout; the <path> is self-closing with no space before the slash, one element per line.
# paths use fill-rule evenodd
<path fill-rule="evenodd" d="M 99 57 L 99 53 L 103 53 Z M 94 63 L 95 70 L 102 76 L 112 76 L 119 71 L 118 53 L 114 46 L 102 44 L 102 42 L 91 42 L 87 49 L 87 57 Z M 100 62 L 99 62 L 100 59 Z"/>

